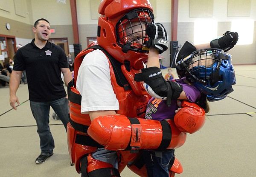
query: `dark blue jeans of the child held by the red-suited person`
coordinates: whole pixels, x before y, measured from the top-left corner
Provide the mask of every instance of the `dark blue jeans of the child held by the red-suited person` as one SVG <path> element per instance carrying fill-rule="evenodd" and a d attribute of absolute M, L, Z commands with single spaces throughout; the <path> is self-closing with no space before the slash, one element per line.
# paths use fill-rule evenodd
<path fill-rule="evenodd" d="M 168 166 L 174 158 L 174 149 L 165 151 L 143 151 L 148 177 L 169 177 Z"/>

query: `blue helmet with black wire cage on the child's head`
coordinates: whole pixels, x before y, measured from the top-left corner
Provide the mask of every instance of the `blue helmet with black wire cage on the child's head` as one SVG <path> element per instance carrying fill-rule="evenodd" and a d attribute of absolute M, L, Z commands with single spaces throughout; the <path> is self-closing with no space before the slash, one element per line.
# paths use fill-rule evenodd
<path fill-rule="evenodd" d="M 209 101 L 222 100 L 236 84 L 231 57 L 221 49 L 201 49 L 177 62 L 177 70 L 183 71 L 189 82 L 206 94 Z"/>

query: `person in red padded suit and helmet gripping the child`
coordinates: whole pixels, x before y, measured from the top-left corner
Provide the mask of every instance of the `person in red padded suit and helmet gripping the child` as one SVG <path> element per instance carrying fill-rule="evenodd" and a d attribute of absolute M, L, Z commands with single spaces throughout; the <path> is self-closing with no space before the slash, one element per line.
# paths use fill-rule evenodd
<path fill-rule="evenodd" d="M 148 60 L 149 46 L 162 53 L 168 40 L 145 35 L 154 23 L 148 0 L 103 0 L 99 14 L 97 42 L 76 57 L 68 88 L 71 164 L 82 177 L 119 177 L 125 166 L 146 177 L 140 149 L 178 148 L 186 141 L 186 128 L 177 128 L 173 120 L 144 119 L 151 96 L 134 81 Z M 198 106 L 190 116 L 202 119 L 204 112 Z M 92 126 L 99 119 L 103 130 Z M 183 171 L 177 158 L 169 168 L 170 176 Z"/>

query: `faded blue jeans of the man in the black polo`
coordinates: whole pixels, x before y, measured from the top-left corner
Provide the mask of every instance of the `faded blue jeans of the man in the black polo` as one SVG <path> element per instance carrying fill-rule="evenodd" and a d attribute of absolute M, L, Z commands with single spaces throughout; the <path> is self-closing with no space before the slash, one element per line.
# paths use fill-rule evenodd
<path fill-rule="evenodd" d="M 30 101 L 30 108 L 37 124 L 37 132 L 40 137 L 41 155 L 52 154 L 54 149 L 54 140 L 49 127 L 50 106 L 60 118 L 67 131 L 67 123 L 69 122 L 68 100 L 63 97 L 58 100 L 49 102 Z"/>

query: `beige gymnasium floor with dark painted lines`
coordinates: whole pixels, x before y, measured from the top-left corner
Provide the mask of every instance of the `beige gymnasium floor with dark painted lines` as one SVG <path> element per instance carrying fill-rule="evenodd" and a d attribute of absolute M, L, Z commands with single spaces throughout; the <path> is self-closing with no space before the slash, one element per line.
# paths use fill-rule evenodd
<path fill-rule="evenodd" d="M 234 68 L 235 91 L 224 100 L 210 103 L 204 127 L 188 134 L 186 143 L 175 150 L 184 170 L 176 177 L 255 177 L 256 65 Z M 15 111 L 9 106 L 9 86 L 0 86 L 0 177 L 80 177 L 70 166 L 60 120 L 50 119 L 54 155 L 44 164 L 35 164 L 41 151 L 27 85 L 20 85 L 17 96 L 22 104 Z M 138 177 L 127 168 L 121 176 Z"/>

